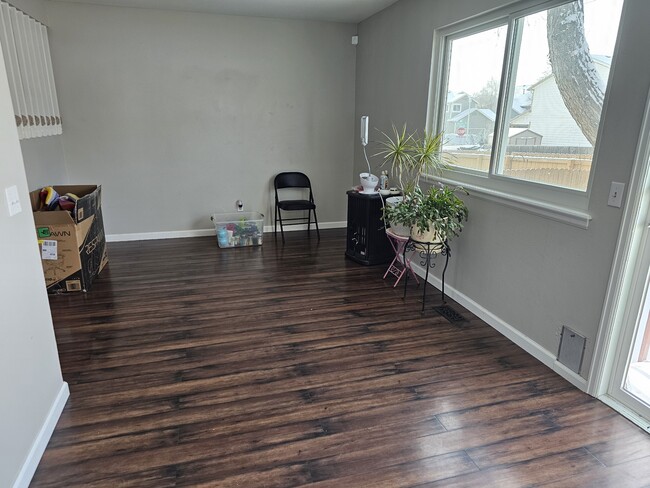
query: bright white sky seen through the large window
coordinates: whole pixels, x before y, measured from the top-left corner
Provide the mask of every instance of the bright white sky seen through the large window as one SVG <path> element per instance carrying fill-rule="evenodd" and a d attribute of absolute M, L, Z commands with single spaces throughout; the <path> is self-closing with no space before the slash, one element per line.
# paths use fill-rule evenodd
<path fill-rule="evenodd" d="M 611 56 L 623 0 L 584 0 L 585 35 L 592 54 Z M 517 85 L 531 85 L 550 73 L 546 12 L 525 20 Z M 506 26 L 453 41 L 449 90 L 478 92 L 490 78 L 501 77 Z M 467 60 L 471 61 L 467 61 Z"/>

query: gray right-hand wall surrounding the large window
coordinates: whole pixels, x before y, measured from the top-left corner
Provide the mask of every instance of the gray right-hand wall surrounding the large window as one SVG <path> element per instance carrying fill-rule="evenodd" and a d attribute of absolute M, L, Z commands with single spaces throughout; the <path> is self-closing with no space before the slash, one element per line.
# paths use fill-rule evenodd
<path fill-rule="evenodd" d="M 433 31 L 510 2 L 401 0 L 359 26 L 356 114 L 372 126 L 424 127 Z M 558 327 L 586 335 L 587 377 L 622 210 L 611 181 L 628 182 L 650 86 L 650 2 L 627 0 L 589 212 L 588 230 L 468 197 L 470 220 L 453 242 L 448 283 L 548 351 Z M 357 130 L 358 132 L 358 130 Z M 363 169 L 356 153 L 356 170 Z"/>

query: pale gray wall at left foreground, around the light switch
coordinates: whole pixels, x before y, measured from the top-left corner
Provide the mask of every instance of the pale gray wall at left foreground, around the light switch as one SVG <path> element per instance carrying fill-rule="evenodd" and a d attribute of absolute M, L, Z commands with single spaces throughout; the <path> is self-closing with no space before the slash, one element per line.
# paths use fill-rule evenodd
<path fill-rule="evenodd" d="M 63 387 L 27 179 L 0 51 L 0 486 L 12 486 Z M 9 217 L 4 189 L 23 211 Z"/>

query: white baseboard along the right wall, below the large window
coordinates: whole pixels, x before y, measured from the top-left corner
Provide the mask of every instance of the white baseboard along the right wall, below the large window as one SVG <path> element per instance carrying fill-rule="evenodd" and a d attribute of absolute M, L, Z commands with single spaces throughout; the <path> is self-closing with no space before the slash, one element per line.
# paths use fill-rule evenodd
<path fill-rule="evenodd" d="M 413 270 L 418 274 L 418 276 L 424 278 L 425 275 L 424 268 L 418 266 L 413 262 L 411 263 L 411 266 L 413 266 Z M 435 286 L 438 289 L 442 287 L 442 280 L 431 273 L 429 273 L 429 283 L 431 283 L 433 286 Z M 560 363 L 556 359 L 555 354 L 553 354 L 551 351 L 545 349 L 544 347 L 539 345 L 537 342 L 533 341 L 530 337 L 526 336 L 525 334 L 522 334 L 512 325 L 508 324 L 500 317 L 497 317 L 492 312 L 490 312 L 489 310 L 487 310 L 486 308 L 484 308 L 483 306 L 481 306 L 480 304 L 476 303 L 474 300 L 469 298 L 467 295 L 459 292 L 454 287 L 449 286 L 448 283 L 445 283 L 445 294 L 448 295 L 449 298 L 451 298 L 452 300 L 455 300 L 456 302 L 461 304 L 463 307 L 465 307 L 467 310 L 472 312 L 474 315 L 476 315 L 478 318 L 483 320 L 485 323 L 490 325 L 497 332 L 501 333 L 502 335 L 510 339 L 512 342 L 517 344 L 528 354 L 541 361 L 544 365 L 551 368 L 553 371 L 555 371 L 557 374 L 562 376 L 569 383 L 573 384 L 575 387 L 579 388 L 582 391 L 585 392 L 587 391 L 587 380 L 582 376 L 580 376 L 579 374 L 576 374 L 570 369 L 568 369 L 562 363 Z"/>

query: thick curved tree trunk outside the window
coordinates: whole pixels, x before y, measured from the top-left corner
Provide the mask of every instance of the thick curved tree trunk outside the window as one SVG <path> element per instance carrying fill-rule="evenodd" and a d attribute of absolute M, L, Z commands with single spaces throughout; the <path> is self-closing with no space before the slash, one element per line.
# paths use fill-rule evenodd
<path fill-rule="evenodd" d="M 546 22 L 555 82 L 569 113 L 593 146 L 603 108 L 605 84 L 589 53 L 582 0 L 550 9 Z"/>

